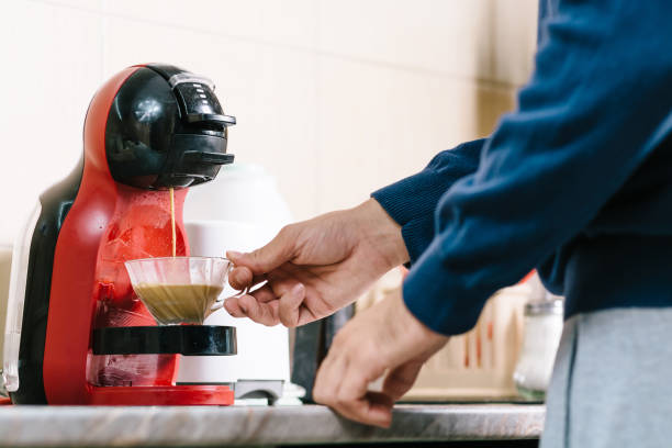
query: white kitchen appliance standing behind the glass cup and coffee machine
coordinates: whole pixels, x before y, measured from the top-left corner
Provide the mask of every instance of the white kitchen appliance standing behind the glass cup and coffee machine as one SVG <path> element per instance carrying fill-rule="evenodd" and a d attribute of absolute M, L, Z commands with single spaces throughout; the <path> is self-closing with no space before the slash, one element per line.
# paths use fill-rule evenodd
<path fill-rule="evenodd" d="M 190 191 L 184 215 L 191 255 L 224 256 L 225 250 L 250 251 L 271 240 L 291 222 L 275 179 L 259 166 L 222 170 L 216 181 Z M 231 288 L 225 296 L 235 294 Z M 206 325 L 235 325 L 235 357 L 183 357 L 178 383 L 233 384 L 236 400 L 282 397 L 290 380 L 289 332 L 219 310 Z"/>

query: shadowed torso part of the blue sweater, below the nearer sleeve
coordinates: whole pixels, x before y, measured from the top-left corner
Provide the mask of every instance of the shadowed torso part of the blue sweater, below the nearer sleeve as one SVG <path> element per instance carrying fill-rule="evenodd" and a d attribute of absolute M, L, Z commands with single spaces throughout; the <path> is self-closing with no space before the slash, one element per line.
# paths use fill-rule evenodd
<path fill-rule="evenodd" d="M 561 0 L 539 1 L 538 44 Z M 598 177 L 601 173 L 595 172 Z M 595 219 L 537 267 L 565 316 L 627 306 L 672 306 L 672 136 Z M 670 267 L 668 267 L 670 265 Z"/>

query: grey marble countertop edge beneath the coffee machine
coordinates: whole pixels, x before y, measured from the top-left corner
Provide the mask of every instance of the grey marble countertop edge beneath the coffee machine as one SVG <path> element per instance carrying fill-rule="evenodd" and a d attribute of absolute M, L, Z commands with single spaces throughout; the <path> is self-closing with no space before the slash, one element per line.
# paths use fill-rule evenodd
<path fill-rule="evenodd" d="M 399 405 L 392 427 L 324 406 L 0 406 L 0 446 L 224 446 L 537 438 L 538 404 Z"/>

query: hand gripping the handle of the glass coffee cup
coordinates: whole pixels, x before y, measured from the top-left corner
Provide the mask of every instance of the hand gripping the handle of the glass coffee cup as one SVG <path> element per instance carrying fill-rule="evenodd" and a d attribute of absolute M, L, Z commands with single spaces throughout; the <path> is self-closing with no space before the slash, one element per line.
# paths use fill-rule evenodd
<path fill-rule="evenodd" d="M 224 307 L 265 325 L 298 326 L 347 305 L 408 260 L 401 227 L 370 199 L 355 209 L 289 225 L 250 254 L 229 251 L 235 289 L 267 281 Z"/>

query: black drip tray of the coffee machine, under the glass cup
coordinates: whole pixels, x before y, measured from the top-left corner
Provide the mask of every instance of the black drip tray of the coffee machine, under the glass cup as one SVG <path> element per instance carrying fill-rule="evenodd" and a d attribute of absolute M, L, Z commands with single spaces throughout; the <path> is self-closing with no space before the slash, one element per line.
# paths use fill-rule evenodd
<path fill-rule="evenodd" d="M 93 355 L 236 355 L 236 328 L 220 325 L 105 327 L 93 331 Z"/>

